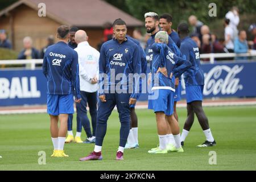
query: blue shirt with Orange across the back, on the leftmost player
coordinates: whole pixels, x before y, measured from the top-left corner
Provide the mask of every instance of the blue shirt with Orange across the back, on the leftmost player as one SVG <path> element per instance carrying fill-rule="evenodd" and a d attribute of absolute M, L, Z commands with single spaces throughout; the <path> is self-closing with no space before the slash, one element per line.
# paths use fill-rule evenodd
<path fill-rule="evenodd" d="M 80 96 L 77 52 L 64 42 L 49 46 L 44 54 L 43 73 L 47 79 L 47 94 Z"/>

